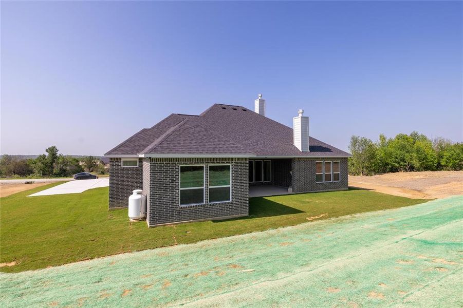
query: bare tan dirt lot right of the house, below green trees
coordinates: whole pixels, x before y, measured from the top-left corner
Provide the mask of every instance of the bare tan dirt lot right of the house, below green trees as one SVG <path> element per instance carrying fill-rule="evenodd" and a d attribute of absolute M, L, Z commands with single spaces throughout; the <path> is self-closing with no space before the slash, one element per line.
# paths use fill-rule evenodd
<path fill-rule="evenodd" d="M 349 176 L 349 186 L 415 199 L 463 195 L 463 171 L 397 172 L 372 177 Z"/>

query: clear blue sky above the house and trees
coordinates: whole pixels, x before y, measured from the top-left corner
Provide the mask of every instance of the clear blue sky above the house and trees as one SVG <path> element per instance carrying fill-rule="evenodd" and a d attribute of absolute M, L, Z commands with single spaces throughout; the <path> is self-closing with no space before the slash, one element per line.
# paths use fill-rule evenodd
<path fill-rule="evenodd" d="M 462 2 L 2 2 L 1 152 L 102 155 L 170 113 L 253 108 L 341 149 L 462 141 Z"/>

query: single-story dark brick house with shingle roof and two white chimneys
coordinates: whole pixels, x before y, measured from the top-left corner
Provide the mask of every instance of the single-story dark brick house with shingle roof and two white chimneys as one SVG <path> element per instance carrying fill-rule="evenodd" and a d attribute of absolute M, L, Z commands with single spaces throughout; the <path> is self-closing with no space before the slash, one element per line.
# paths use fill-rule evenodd
<path fill-rule="evenodd" d="M 303 110 L 290 128 L 265 116 L 261 94 L 254 105 L 173 113 L 109 150 L 109 208 L 142 189 L 157 226 L 247 216 L 250 196 L 275 191 L 347 189 L 349 153 L 309 137 Z"/>

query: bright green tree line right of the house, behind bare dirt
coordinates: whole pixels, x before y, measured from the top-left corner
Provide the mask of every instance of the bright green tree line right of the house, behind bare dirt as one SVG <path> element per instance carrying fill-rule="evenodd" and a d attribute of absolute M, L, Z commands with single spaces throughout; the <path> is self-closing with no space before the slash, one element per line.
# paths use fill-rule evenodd
<path fill-rule="evenodd" d="M 463 143 L 436 137 L 432 140 L 413 131 L 379 140 L 352 136 L 349 143 L 349 173 L 375 175 L 387 172 L 463 170 Z"/>

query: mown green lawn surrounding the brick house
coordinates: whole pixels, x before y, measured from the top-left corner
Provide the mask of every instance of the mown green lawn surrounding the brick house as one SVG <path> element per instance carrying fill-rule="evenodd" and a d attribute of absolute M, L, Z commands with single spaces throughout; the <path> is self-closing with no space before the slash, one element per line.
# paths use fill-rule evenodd
<path fill-rule="evenodd" d="M 101 256 L 192 243 L 429 200 L 350 189 L 251 198 L 250 216 L 147 228 L 130 223 L 127 210 L 108 211 L 108 188 L 82 194 L 30 197 L 53 183 L 0 199 L 2 272 L 21 272 Z"/>

